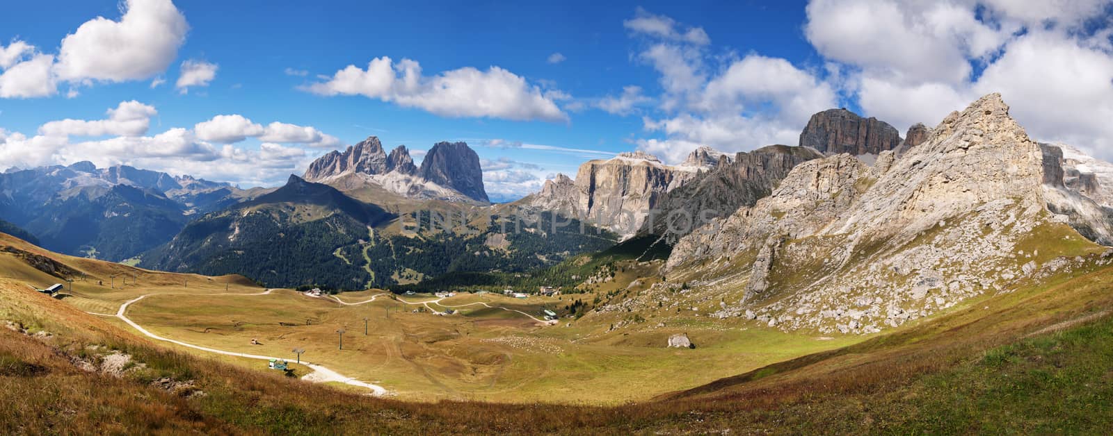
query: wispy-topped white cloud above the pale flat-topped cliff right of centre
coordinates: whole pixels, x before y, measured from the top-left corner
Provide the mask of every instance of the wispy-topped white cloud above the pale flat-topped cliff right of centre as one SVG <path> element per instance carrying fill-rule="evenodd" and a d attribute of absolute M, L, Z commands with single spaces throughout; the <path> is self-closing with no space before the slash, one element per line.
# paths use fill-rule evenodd
<path fill-rule="evenodd" d="M 644 131 L 659 137 L 634 142 L 666 161 L 679 162 L 700 146 L 743 151 L 796 145 L 808 117 L 837 106 L 831 83 L 786 59 L 710 53 L 701 28 L 644 10 L 624 26 L 647 41 L 637 59 L 657 70 L 662 89 L 657 113 L 642 118 Z M 628 113 L 637 91 L 623 90 L 624 102 L 604 100 L 614 109 L 609 111 Z"/>

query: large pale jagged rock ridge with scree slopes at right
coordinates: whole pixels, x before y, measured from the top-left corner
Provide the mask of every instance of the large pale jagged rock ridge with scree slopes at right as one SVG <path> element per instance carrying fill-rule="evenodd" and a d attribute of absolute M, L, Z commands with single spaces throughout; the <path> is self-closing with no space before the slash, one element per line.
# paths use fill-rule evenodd
<path fill-rule="evenodd" d="M 1022 248 L 1037 228 L 1070 231 L 1048 212 L 1043 157 L 988 95 L 899 159 L 796 166 L 769 197 L 681 238 L 666 272 L 700 277 L 693 293 L 726 299 L 721 314 L 782 329 L 898 326 L 1007 290 L 1020 265 L 1051 259 Z"/>

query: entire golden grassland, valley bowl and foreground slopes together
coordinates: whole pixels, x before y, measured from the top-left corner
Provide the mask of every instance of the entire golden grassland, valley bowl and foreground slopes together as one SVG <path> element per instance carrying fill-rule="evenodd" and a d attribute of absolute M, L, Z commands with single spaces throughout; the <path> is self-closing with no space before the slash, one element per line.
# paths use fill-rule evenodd
<path fill-rule="evenodd" d="M 235 277 L 58 258 L 90 276 L 136 274 L 132 284 L 145 286 L 78 281 L 59 300 L 28 286 L 51 276 L 0 256 L 6 434 L 1078 434 L 1113 426 L 1113 268 L 1100 255 L 880 335 L 830 340 L 663 314 L 620 329 L 611 324 L 622 318 L 604 314 L 559 326 L 481 305 L 436 316 L 413 309 L 482 301 L 533 314 L 553 303 L 401 297 L 406 304 L 367 291 L 342 295 L 343 304 L 288 290 L 257 295 L 264 290 Z M 118 313 L 140 295 L 149 296 L 126 315 L 155 335 L 262 356 L 302 347 L 306 359 L 396 397 L 167 347 L 119 318 L 88 314 Z M 335 347 L 337 327 L 346 330 L 344 350 Z M 678 331 L 697 348 L 663 348 Z"/>

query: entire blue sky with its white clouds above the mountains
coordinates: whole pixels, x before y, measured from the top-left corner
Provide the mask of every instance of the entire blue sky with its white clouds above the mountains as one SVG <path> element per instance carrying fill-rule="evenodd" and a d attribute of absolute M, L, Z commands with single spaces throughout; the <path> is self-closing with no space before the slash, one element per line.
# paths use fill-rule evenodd
<path fill-rule="evenodd" d="M 903 131 L 987 91 L 1041 139 L 1103 156 L 1107 2 L 1023 3 L 18 2 L 0 14 L 0 167 L 89 159 L 275 185 L 372 135 L 465 140 L 505 199 L 588 158 L 795 145 L 836 106 Z M 376 59 L 393 72 L 368 71 Z M 1048 102 L 1087 111 L 1047 119 Z M 240 118 L 198 126 L 217 116 Z"/>

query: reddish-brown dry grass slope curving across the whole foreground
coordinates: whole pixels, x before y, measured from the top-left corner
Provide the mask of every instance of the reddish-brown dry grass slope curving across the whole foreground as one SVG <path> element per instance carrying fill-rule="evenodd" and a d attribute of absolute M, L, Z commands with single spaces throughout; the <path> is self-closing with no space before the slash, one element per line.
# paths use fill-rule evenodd
<path fill-rule="evenodd" d="M 117 268 L 83 260 L 72 266 L 98 274 Z M 29 278 L 49 277 L 3 257 L 0 268 L 0 276 L 26 276 L 0 277 L 0 317 L 19 330 L 0 328 L 6 434 L 1100 433 L 1113 417 L 1102 399 L 1113 388 L 1106 374 L 1113 320 L 1102 315 L 1113 307 L 1109 267 L 1091 266 L 971 300 L 860 344 L 620 406 L 411 403 L 306 384 L 151 344 L 26 286 Z M 86 373 L 73 361 L 88 357 L 89 346 L 127 353 L 145 369 L 119 378 Z M 191 382 L 205 395 L 184 397 L 152 386 L 159 377 Z M 1034 408 L 1050 409 L 1058 400 L 1085 416 L 1060 419 Z"/>

